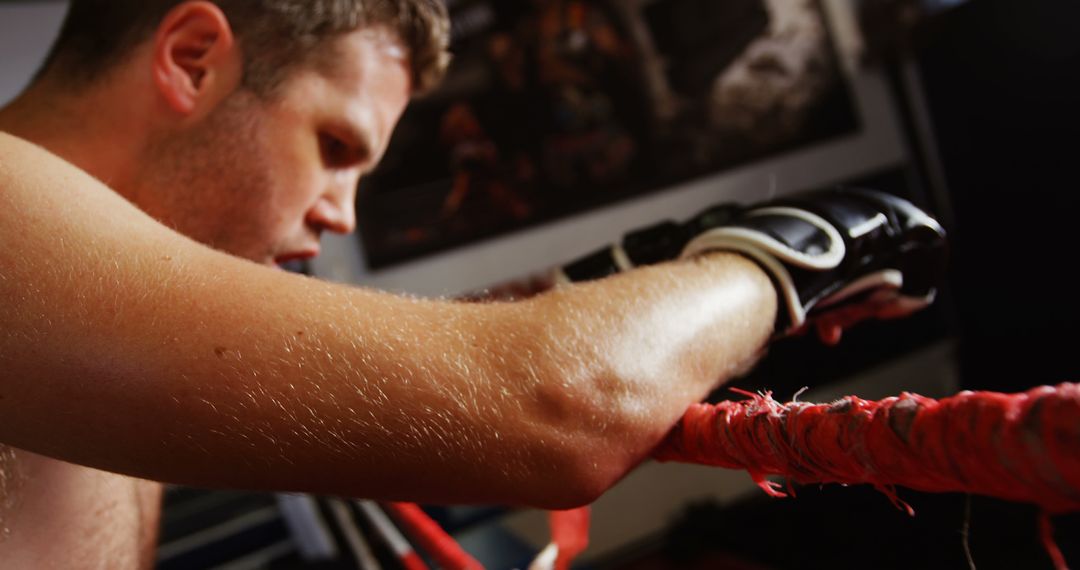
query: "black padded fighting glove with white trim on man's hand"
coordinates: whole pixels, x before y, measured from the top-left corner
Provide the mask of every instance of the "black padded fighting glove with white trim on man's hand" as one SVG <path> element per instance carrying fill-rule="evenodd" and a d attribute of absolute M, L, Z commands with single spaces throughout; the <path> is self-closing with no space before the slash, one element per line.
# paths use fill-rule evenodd
<path fill-rule="evenodd" d="M 665 221 L 563 268 L 568 281 L 708 252 L 756 261 L 782 301 L 777 335 L 873 298 L 890 314 L 933 301 L 945 269 L 945 231 L 912 203 L 872 190 L 794 194 L 747 207 L 720 205 Z"/>

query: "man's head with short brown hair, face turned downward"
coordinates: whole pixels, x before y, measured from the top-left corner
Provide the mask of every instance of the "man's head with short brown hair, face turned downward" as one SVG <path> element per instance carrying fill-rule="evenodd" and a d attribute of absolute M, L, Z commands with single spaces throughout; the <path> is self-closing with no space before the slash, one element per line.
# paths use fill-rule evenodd
<path fill-rule="evenodd" d="M 80 165 L 181 233 L 280 263 L 353 229 L 359 178 L 441 78 L 447 36 L 440 0 L 72 0 L 39 82 L 131 108 L 97 130 L 137 133 L 127 164 Z"/>

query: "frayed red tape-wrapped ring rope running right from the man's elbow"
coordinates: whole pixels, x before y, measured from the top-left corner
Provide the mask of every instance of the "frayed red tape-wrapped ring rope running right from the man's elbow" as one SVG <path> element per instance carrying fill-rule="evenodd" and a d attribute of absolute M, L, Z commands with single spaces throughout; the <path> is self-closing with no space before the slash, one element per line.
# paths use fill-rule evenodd
<path fill-rule="evenodd" d="M 770 475 L 869 484 L 909 513 L 894 487 L 1080 510 L 1080 384 L 832 404 L 741 393 L 750 399 L 692 406 L 656 459 L 745 470 L 777 497 Z"/>

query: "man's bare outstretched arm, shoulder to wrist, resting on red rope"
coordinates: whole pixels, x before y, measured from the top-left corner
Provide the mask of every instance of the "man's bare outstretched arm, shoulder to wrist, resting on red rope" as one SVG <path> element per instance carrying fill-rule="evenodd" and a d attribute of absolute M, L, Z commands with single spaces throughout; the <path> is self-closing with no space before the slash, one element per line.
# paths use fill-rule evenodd
<path fill-rule="evenodd" d="M 0 442 L 139 477 L 590 501 L 747 366 L 777 296 L 719 254 L 455 303 L 259 267 L 0 135 Z"/>

